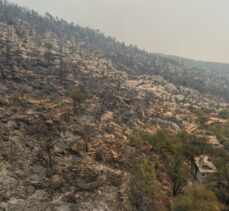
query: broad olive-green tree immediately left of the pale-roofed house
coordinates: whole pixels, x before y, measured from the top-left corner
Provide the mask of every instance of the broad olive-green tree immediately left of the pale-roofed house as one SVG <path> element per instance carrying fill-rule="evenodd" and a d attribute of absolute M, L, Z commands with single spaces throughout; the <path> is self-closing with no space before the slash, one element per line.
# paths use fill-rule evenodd
<path fill-rule="evenodd" d="M 160 155 L 171 179 L 173 195 L 182 192 L 191 177 L 191 171 L 186 162 L 190 161 L 193 155 L 200 153 L 198 145 L 195 144 L 195 137 L 185 132 L 170 134 L 165 130 L 159 130 L 151 135 L 135 130 L 131 140 L 134 140 L 134 145 L 144 142 L 152 145 L 152 150 Z"/>

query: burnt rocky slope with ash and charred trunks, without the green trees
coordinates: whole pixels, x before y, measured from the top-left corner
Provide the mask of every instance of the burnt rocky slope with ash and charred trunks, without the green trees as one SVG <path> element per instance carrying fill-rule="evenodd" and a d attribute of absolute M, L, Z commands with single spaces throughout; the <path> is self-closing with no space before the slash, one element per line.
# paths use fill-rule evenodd
<path fill-rule="evenodd" d="M 196 123 L 195 109 L 228 108 L 148 72 L 138 58 L 148 54 L 110 51 L 115 42 L 90 29 L 3 2 L 0 20 L 2 210 L 132 210 L 133 160 L 156 156 L 130 144 L 132 130 L 179 132 Z"/>

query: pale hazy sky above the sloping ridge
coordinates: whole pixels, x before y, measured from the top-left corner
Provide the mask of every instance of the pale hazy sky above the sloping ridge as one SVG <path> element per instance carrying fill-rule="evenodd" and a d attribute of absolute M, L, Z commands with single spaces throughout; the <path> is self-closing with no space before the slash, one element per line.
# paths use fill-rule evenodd
<path fill-rule="evenodd" d="M 150 52 L 229 63 L 229 0 L 10 0 Z"/>

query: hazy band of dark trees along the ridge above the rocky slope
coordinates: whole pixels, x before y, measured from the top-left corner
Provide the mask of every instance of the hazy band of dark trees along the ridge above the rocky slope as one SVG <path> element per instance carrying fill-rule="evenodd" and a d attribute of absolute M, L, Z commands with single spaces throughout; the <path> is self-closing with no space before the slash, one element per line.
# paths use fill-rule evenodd
<path fill-rule="evenodd" d="M 222 77 L 219 71 L 209 74 L 208 68 L 199 71 L 198 67 L 196 69 L 189 65 L 180 65 L 177 60 L 147 53 L 132 45 L 126 46 L 125 43 L 105 37 L 96 30 L 83 28 L 73 23 L 69 24 L 48 13 L 45 17 L 41 17 L 35 11 L 27 11 L 15 5 L 3 6 L 3 3 L 1 5 L 0 20 L 12 26 L 18 25 L 16 23 L 18 20 L 22 21 L 25 24 L 24 29 L 27 28 L 27 31 L 39 34 L 37 37 L 30 34 L 30 39 L 40 44 L 42 42 L 43 45 L 45 44 L 42 40 L 48 32 L 59 38 L 64 32 L 65 39 L 74 40 L 81 49 L 90 51 L 90 53 L 111 59 L 112 63 L 117 68 L 122 68 L 123 71 L 134 74 L 157 74 L 177 85 L 194 88 L 201 93 L 223 97 L 226 100 L 229 98 L 229 82 Z M 20 31 L 22 26 L 18 27 L 17 30 Z M 20 35 L 23 38 L 23 34 Z M 202 66 L 198 66 L 202 69 Z"/>

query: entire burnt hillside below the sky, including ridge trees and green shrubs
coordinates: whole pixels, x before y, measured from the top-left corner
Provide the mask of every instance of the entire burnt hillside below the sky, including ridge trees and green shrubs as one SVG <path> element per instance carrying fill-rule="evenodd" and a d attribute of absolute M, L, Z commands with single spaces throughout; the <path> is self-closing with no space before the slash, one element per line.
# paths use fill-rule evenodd
<path fill-rule="evenodd" d="M 171 210 L 203 151 L 228 206 L 220 76 L 1 0 L 0 55 L 0 210 Z"/>

